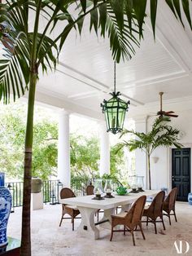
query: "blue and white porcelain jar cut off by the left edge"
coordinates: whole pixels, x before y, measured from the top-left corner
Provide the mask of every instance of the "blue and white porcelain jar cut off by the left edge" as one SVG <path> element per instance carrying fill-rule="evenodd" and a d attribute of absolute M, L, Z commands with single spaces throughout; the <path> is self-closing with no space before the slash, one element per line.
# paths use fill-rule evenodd
<path fill-rule="evenodd" d="M 7 223 L 11 212 L 11 192 L 5 187 L 5 174 L 0 172 L 0 247 L 7 245 Z"/>

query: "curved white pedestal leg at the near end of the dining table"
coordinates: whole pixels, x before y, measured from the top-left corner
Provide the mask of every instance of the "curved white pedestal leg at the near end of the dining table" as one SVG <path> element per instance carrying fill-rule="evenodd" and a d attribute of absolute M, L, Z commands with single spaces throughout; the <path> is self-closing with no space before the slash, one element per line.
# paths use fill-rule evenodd
<path fill-rule="evenodd" d="M 94 214 L 97 209 L 78 206 L 78 210 L 81 212 L 81 224 L 77 232 L 81 235 L 89 236 L 89 238 L 98 239 L 99 230 L 94 225 Z"/>

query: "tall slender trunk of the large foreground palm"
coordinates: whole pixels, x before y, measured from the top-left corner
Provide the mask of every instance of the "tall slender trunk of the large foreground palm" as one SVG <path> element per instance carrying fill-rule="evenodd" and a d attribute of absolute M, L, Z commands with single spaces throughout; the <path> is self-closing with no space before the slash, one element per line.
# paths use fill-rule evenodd
<path fill-rule="evenodd" d="M 31 256 L 31 179 L 32 179 L 32 147 L 33 147 L 33 110 L 35 101 L 35 89 L 37 84 L 37 72 L 32 71 L 29 82 L 28 117 L 25 134 L 24 150 L 24 192 L 21 233 L 21 256 Z"/>

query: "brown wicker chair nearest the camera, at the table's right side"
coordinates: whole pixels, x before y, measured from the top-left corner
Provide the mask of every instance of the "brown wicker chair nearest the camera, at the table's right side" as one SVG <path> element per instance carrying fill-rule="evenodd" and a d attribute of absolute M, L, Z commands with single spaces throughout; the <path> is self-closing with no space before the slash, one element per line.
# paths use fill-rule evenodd
<path fill-rule="evenodd" d="M 125 212 L 122 214 L 111 215 L 111 238 L 113 237 L 113 232 L 130 232 L 133 238 L 133 245 L 135 245 L 134 232 L 137 230 L 137 226 L 140 227 L 140 231 L 142 232 L 142 237 L 145 240 L 144 233 L 142 231 L 142 212 L 146 203 L 146 196 L 141 196 L 133 203 L 133 206 L 129 210 L 129 212 Z M 123 230 L 114 230 L 113 228 L 116 225 L 124 225 Z"/>

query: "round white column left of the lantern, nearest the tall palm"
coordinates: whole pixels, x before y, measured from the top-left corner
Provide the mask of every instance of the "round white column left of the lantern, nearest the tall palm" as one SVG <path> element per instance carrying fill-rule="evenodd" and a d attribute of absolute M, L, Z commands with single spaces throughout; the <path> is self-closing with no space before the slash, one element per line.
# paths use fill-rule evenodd
<path fill-rule="evenodd" d="M 70 188 L 69 113 L 65 110 L 59 113 L 58 179 L 63 183 L 63 188 Z"/>

